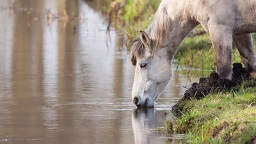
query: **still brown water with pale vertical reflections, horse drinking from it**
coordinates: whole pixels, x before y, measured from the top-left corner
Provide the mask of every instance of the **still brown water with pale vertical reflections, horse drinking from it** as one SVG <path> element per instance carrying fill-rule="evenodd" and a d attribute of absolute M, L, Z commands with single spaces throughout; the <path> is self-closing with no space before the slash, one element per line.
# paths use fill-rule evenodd
<path fill-rule="evenodd" d="M 106 2 L 0 6 L 0 143 L 179 143 L 157 129 L 196 77 L 173 76 L 155 109 L 136 109 L 122 32 L 106 44 Z"/>

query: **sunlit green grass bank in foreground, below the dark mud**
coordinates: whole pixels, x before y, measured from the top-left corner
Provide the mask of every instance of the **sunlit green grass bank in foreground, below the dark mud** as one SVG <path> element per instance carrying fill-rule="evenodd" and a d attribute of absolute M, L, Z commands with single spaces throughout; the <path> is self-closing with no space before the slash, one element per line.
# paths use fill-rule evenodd
<path fill-rule="evenodd" d="M 256 88 L 219 93 L 182 104 L 175 132 L 192 143 L 246 143 L 256 134 Z"/>

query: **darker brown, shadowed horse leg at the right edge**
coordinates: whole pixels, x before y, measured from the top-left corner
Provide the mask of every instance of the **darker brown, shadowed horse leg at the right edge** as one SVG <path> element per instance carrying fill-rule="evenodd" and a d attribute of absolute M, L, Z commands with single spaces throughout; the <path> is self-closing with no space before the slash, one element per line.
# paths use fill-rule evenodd
<path fill-rule="evenodd" d="M 256 54 L 253 48 L 252 34 L 234 35 L 233 38 L 250 76 L 256 78 Z"/>

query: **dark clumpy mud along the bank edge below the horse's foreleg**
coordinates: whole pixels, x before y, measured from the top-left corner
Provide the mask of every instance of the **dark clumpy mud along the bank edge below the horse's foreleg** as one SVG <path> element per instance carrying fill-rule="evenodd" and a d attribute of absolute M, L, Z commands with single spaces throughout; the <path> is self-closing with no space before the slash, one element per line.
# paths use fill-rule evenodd
<path fill-rule="evenodd" d="M 234 63 L 232 80 L 220 78 L 217 72 L 212 72 L 208 77 L 201 77 L 199 83 L 193 83 L 191 88 L 186 90 L 182 100 L 173 106 L 172 111 L 178 114 L 182 111 L 184 100 L 202 99 L 209 93 L 237 92 L 241 88 L 256 86 L 256 79 L 250 77 L 248 70 L 243 68 L 241 63 Z"/>

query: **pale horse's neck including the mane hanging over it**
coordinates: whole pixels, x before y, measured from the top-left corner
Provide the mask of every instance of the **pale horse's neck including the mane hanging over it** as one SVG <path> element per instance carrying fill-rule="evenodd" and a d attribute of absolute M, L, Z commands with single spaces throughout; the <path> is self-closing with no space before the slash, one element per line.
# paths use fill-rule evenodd
<path fill-rule="evenodd" d="M 176 2 L 180 6 L 177 6 Z M 154 45 L 158 47 L 156 50 L 160 47 L 167 47 L 173 51 L 174 55 L 184 38 L 198 25 L 191 20 L 186 3 L 185 1 L 163 0 L 159 4 L 155 19 L 147 29 L 147 33 L 156 42 Z M 183 8 L 180 8 L 182 5 Z"/>

